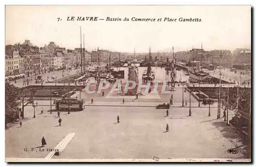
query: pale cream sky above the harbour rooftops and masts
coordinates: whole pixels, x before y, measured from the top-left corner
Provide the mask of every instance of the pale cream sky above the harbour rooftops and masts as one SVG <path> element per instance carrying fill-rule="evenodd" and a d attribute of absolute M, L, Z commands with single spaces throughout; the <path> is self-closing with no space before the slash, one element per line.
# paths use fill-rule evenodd
<path fill-rule="evenodd" d="M 72 16 L 75 20 L 68 21 Z M 104 20 L 77 21 L 79 16 Z M 130 20 L 106 21 L 106 17 Z M 132 17 L 156 21 L 132 21 Z M 163 21 L 165 17 L 177 21 Z M 180 22 L 180 17 L 200 18 L 201 22 Z M 204 50 L 233 51 L 251 45 L 250 6 L 6 6 L 5 21 L 6 44 L 29 39 L 37 46 L 54 41 L 74 49 L 80 47 L 81 27 L 88 51 L 99 47 L 147 53 L 150 46 L 151 52 L 169 52 L 174 46 L 177 52 L 201 48 L 201 43 Z"/>

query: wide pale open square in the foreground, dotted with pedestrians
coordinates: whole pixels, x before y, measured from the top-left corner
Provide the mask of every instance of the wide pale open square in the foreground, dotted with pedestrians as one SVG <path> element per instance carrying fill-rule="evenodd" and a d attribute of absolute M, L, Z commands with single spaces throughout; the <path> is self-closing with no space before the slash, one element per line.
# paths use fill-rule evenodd
<path fill-rule="evenodd" d="M 46 106 L 45 111 L 49 109 Z M 53 149 L 71 132 L 75 137 L 60 154 L 53 158 L 239 158 L 243 154 L 229 154 L 235 146 L 218 130 L 217 109 L 153 107 L 88 106 L 81 112 L 61 113 L 62 125 L 58 126 L 57 113 L 38 114 L 6 130 L 6 157 L 44 158 L 49 152 L 31 151 L 40 146 L 45 136 L 47 146 Z M 116 124 L 116 117 L 120 123 Z M 33 116 L 33 108 L 26 108 L 26 116 Z M 231 115 L 229 116 L 231 117 Z M 169 132 L 164 133 L 166 124 Z M 24 151 L 28 148 L 29 151 Z"/>

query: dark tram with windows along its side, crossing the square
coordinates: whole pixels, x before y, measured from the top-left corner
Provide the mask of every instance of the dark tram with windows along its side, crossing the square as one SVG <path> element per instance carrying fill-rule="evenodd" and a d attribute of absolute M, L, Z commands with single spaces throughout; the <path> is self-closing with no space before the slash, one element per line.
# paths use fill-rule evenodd
<path fill-rule="evenodd" d="M 56 110 L 83 110 L 84 99 L 69 98 L 69 99 L 56 99 Z"/>

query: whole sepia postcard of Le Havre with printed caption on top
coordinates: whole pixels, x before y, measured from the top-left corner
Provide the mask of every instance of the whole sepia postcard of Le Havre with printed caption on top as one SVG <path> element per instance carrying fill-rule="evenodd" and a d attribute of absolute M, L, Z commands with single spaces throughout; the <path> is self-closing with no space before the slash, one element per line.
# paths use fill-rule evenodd
<path fill-rule="evenodd" d="M 251 6 L 6 6 L 7 162 L 250 162 Z"/>

